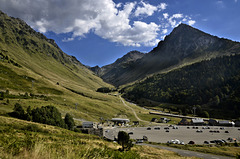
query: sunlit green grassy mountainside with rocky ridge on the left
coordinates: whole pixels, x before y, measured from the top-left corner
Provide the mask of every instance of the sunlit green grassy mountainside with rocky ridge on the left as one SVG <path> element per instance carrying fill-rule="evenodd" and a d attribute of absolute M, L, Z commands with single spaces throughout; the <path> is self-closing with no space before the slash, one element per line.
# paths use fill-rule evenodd
<path fill-rule="evenodd" d="M 24 21 L 0 12 L 0 114 L 15 103 L 52 105 L 75 118 L 97 121 L 124 112 L 119 98 L 96 92 L 105 83 L 75 57 L 64 53 L 52 39 Z"/>

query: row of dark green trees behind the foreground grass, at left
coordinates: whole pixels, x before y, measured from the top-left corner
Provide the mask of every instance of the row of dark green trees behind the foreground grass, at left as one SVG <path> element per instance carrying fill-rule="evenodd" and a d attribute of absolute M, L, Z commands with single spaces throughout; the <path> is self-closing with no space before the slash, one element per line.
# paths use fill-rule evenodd
<path fill-rule="evenodd" d="M 25 112 L 22 106 L 16 103 L 13 112 L 9 113 L 9 115 L 23 120 L 59 126 L 69 130 L 73 130 L 75 126 L 74 120 L 69 113 L 65 115 L 63 120 L 61 113 L 54 106 L 42 106 L 41 108 L 35 109 L 31 109 L 29 106 Z"/>

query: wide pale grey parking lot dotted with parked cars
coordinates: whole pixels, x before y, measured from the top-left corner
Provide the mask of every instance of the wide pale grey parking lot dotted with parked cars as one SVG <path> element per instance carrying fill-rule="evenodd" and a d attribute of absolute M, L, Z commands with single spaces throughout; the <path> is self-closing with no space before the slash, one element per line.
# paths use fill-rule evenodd
<path fill-rule="evenodd" d="M 240 129 L 237 127 L 217 127 L 209 126 L 155 126 L 155 127 L 135 127 L 135 128 L 112 128 L 104 131 L 104 135 L 109 139 L 117 137 L 119 131 L 130 133 L 132 139 L 142 139 L 147 136 L 150 142 L 167 143 L 167 141 L 178 139 L 185 144 L 194 141 L 195 144 L 203 144 L 204 141 L 212 141 L 228 138 L 240 140 Z M 160 129 L 159 129 L 160 128 Z M 239 130 L 238 130 L 239 129 Z"/>

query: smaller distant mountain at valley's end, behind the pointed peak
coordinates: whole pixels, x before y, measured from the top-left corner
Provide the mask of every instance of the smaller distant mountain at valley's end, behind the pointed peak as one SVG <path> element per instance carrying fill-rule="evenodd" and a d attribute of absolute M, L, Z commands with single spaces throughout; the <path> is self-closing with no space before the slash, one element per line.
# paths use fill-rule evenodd
<path fill-rule="evenodd" d="M 104 79 L 104 81 L 114 84 L 113 81 L 115 81 L 116 78 L 128 71 L 129 67 L 131 67 L 132 64 L 141 59 L 143 56 L 144 53 L 131 51 L 110 65 L 106 65 L 101 68 L 99 66 L 95 66 L 92 67 L 91 70 Z"/>

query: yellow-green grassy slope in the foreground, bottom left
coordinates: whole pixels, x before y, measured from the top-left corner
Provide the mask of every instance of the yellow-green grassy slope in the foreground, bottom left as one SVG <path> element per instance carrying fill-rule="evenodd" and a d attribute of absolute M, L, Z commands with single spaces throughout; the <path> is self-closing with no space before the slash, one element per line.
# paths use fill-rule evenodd
<path fill-rule="evenodd" d="M 118 151 L 116 143 L 66 129 L 0 116 L 0 158 L 176 158 L 174 152 L 148 146 Z M 190 157 L 189 157 L 190 158 Z"/>

